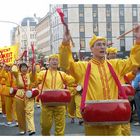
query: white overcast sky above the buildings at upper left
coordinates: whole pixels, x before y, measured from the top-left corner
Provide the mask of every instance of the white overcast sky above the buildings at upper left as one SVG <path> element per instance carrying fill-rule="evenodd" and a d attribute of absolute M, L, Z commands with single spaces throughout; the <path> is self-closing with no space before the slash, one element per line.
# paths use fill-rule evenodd
<path fill-rule="evenodd" d="M 44 17 L 49 11 L 49 0 L 1 0 L 0 21 L 13 21 L 18 24 L 25 17 Z M 0 46 L 10 45 L 10 30 L 14 24 L 0 22 Z"/>

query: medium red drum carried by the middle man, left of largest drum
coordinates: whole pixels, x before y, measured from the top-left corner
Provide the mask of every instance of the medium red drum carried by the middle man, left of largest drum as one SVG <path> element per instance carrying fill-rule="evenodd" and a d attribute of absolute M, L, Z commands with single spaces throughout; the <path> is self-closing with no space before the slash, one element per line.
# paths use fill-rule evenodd
<path fill-rule="evenodd" d="M 49 106 L 65 105 L 70 102 L 71 94 L 66 89 L 45 90 L 40 94 L 40 99 Z"/>

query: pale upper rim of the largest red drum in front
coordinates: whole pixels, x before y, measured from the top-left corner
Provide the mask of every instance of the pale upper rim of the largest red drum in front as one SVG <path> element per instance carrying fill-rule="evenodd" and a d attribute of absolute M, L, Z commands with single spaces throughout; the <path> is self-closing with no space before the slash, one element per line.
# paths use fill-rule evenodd
<path fill-rule="evenodd" d="M 114 100 L 88 100 L 86 104 L 93 104 L 93 103 L 121 103 L 121 102 L 128 102 L 127 99 L 114 99 Z"/>

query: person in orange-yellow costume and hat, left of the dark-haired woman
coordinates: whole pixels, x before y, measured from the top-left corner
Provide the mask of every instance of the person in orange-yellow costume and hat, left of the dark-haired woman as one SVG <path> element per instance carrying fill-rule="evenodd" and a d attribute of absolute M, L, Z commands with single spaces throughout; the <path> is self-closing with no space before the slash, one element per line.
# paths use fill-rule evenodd
<path fill-rule="evenodd" d="M 17 122 L 15 99 L 14 95 L 10 94 L 10 88 L 16 86 L 16 81 L 11 73 L 12 63 L 5 64 L 4 71 L 2 73 L 2 79 L 5 86 L 2 88 L 2 95 L 5 96 L 5 109 L 6 109 L 6 125 L 14 126 L 13 122 Z M 16 125 L 16 124 L 15 124 Z"/>

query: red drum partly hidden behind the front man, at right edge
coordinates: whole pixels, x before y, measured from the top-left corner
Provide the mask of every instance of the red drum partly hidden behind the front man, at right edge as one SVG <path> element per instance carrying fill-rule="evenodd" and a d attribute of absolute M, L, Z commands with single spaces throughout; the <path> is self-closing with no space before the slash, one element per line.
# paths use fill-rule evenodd
<path fill-rule="evenodd" d="M 123 84 L 122 87 L 123 87 L 127 96 L 134 96 L 135 95 L 135 89 L 131 85 Z"/>

